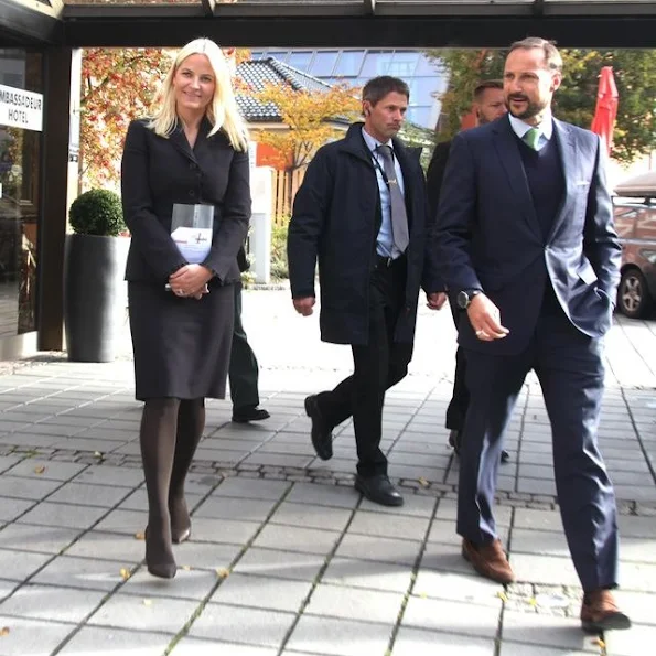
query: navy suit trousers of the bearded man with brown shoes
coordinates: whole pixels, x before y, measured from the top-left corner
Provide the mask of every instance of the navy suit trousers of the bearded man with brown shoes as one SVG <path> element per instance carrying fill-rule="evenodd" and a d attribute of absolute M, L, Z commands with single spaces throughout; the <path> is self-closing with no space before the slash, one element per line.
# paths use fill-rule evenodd
<path fill-rule="evenodd" d="M 545 303 L 530 343 L 518 355 L 466 352 L 470 406 L 460 459 L 458 533 L 475 544 L 496 537 L 493 503 L 502 435 L 534 369 L 551 422 L 564 534 L 585 591 L 613 588 L 617 578 L 615 496 L 596 439 L 602 351 L 602 340 L 583 335 L 559 308 Z"/>

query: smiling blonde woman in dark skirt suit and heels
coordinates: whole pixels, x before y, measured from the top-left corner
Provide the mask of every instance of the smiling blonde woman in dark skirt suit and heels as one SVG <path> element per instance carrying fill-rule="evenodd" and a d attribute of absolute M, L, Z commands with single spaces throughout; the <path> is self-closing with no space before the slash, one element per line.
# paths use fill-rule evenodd
<path fill-rule="evenodd" d="M 148 492 L 146 562 L 175 576 L 171 542 L 191 533 L 184 480 L 205 427 L 205 397 L 224 398 L 237 252 L 248 230 L 247 132 L 221 49 L 179 53 L 148 120 L 126 137 L 121 189 L 132 235 L 126 279 L 140 443 Z M 171 237 L 178 205 L 209 205 L 212 245 L 190 264 Z M 189 209 L 189 207 L 187 207 Z"/>

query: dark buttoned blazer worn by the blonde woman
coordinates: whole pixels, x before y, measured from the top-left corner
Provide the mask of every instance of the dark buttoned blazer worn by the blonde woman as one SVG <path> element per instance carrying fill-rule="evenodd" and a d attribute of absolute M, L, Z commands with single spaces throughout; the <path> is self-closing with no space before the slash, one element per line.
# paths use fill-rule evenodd
<path fill-rule="evenodd" d="M 248 153 L 233 149 L 223 131 L 212 137 L 203 120 L 194 148 L 178 127 L 168 138 L 130 123 L 122 157 L 125 221 L 132 235 L 126 280 L 164 284 L 185 265 L 171 239 L 174 203 L 214 205 L 214 235 L 203 262 L 222 284 L 239 279 L 237 251 L 248 232 Z"/>

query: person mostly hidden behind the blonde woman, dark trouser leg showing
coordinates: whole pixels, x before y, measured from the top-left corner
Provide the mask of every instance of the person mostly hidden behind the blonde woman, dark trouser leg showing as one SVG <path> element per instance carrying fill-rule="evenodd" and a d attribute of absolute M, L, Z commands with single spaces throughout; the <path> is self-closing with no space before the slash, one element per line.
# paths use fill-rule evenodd
<path fill-rule="evenodd" d="M 244 246 L 237 254 L 237 264 L 240 272 L 248 271 L 250 268 Z M 233 421 L 235 423 L 261 421 L 271 417 L 267 410 L 258 408 L 260 404 L 258 391 L 259 365 L 241 323 L 243 287 L 241 281 L 235 282 L 235 327 L 233 330 L 233 348 L 228 368 Z"/>

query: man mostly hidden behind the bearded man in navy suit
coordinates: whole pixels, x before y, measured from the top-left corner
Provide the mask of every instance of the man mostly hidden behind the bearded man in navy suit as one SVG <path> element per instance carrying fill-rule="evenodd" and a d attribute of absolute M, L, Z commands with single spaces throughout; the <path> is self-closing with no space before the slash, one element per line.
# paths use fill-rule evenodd
<path fill-rule="evenodd" d="M 474 89 L 472 109 L 476 116 L 477 126 L 485 126 L 504 116 L 507 111 L 504 101 L 504 83 L 501 79 L 485 79 L 477 84 Z M 426 173 L 428 212 L 431 219 L 438 213 L 440 190 L 442 189 L 442 179 L 444 178 L 444 170 L 447 169 L 450 150 L 451 141 L 442 141 L 441 143 L 438 143 L 433 150 L 433 157 L 431 158 Z M 463 311 L 459 310 L 454 297 L 449 299 L 449 307 L 451 308 L 455 330 L 458 330 Z M 465 385 L 465 367 L 464 351 L 459 346 L 455 352 L 453 394 L 449 407 L 447 408 L 445 421 L 447 428 L 450 431 L 449 444 L 453 447 L 456 454 L 460 453 L 462 429 L 464 426 L 464 418 L 467 413 L 467 404 L 470 401 L 470 392 Z M 502 462 L 507 462 L 509 459 L 509 453 L 504 449 L 502 451 Z"/>

